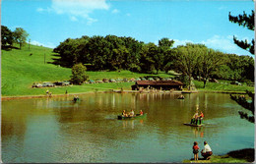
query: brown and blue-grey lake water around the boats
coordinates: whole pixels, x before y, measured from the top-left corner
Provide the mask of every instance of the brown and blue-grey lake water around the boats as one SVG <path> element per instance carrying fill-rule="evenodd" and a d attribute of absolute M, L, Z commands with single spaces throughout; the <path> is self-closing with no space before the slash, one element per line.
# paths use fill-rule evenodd
<path fill-rule="evenodd" d="M 192 145 L 207 140 L 214 154 L 254 147 L 254 124 L 228 94 L 88 93 L 2 101 L 2 161 L 182 162 Z M 205 127 L 184 126 L 196 105 Z M 145 119 L 117 120 L 122 110 L 143 110 Z M 201 156 L 201 154 L 200 154 Z"/>

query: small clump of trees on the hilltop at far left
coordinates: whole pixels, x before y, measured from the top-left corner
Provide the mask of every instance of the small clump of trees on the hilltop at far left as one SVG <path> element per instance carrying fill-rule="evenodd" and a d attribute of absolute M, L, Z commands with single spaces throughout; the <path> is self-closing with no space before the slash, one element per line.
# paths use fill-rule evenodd
<path fill-rule="evenodd" d="M 13 48 L 13 44 L 20 45 L 20 49 L 27 43 L 29 33 L 22 27 L 16 27 L 14 31 L 8 27 L 1 26 L 1 45 L 2 48 Z"/>

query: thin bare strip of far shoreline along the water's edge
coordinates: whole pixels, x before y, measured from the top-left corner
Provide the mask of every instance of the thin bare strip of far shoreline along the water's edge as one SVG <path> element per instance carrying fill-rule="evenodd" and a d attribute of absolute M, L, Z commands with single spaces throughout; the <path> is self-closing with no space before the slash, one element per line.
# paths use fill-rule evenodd
<path fill-rule="evenodd" d="M 241 91 L 220 91 L 220 90 L 197 90 L 197 91 L 188 91 L 188 90 L 174 90 L 174 91 L 152 91 L 152 90 L 116 90 L 116 89 L 109 89 L 107 91 L 87 91 L 87 92 L 80 92 L 80 93 L 68 93 L 68 94 L 52 94 L 49 95 L 16 95 L 16 96 L 2 96 L 1 100 L 11 100 L 11 99 L 30 99 L 30 98 L 47 98 L 47 97 L 62 97 L 62 96 L 74 96 L 74 95 L 81 95 L 81 94 L 89 94 L 89 93 L 183 93 L 183 94 L 190 94 L 190 93 L 198 93 L 198 92 L 205 92 L 205 93 L 226 93 L 226 94 L 245 94 L 245 92 Z"/>

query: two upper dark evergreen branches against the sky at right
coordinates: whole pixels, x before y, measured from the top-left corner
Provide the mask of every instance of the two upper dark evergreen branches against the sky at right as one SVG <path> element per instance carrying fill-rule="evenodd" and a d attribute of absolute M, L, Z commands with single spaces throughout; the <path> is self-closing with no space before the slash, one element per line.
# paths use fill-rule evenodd
<path fill-rule="evenodd" d="M 228 15 L 229 22 L 238 24 L 242 27 L 247 27 L 250 30 L 254 30 L 254 11 L 252 10 L 251 15 L 247 15 L 245 12 L 243 12 L 243 15 L 238 15 L 236 17 L 231 16 L 230 12 Z M 238 45 L 240 48 L 249 51 L 251 54 L 254 54 L 254 39 L 250 43 L 248 43 L 248 40 L 238 40 L 235 36 L 233 36 L 233 41 L 236 45 Z"/>

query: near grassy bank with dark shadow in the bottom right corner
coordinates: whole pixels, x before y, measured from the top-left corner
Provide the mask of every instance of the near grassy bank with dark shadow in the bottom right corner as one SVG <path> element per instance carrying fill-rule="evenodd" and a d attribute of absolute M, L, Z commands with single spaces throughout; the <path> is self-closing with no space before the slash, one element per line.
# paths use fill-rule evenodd
<path fill-rule="evenodd" d="M 246 148 L 230 151 L 225 155 L 213 155 L 210 160 L 199 159 L 198 161 L 194 161 L 193 159 L 187 159 L 183 163 L 248 163 L 255 160 L 254 153 L 254 148 Z"/>

